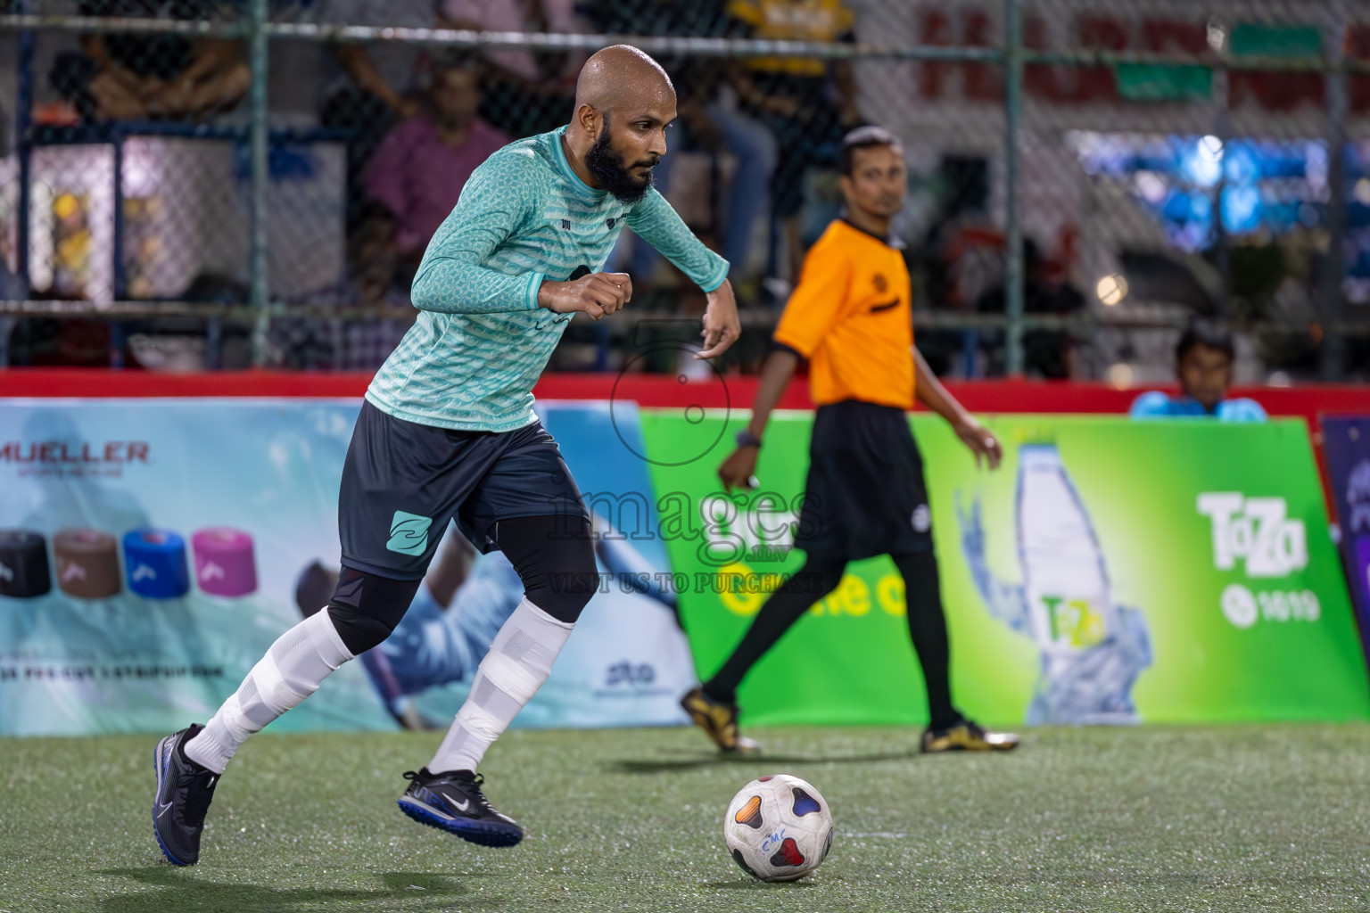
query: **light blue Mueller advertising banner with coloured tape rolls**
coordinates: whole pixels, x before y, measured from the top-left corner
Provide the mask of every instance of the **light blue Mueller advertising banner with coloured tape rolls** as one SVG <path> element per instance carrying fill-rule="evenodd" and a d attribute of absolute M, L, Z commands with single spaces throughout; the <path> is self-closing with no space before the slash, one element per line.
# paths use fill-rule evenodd
<path fill-rule="evenodd" d="M 203 723 L 332 593 L 358 408 L 0 401 L 0 735 Z M 637 441 L 630 405 L 612 417 L 596 404 L 540 413 L 582 490 L 651 502 L 645 464 L 603 446 Z M 693 684 L 689 650 L 674 595 L 651 586 L 669 569 L 664 545 L 610 530 L 599 554 L 603 591 L 516 725 L 685 721 L 677 699 Z M 271 730 L 445 727 L 522 597 L 503 556 L 467 564 L 445 542 L 395 635 Z"/>

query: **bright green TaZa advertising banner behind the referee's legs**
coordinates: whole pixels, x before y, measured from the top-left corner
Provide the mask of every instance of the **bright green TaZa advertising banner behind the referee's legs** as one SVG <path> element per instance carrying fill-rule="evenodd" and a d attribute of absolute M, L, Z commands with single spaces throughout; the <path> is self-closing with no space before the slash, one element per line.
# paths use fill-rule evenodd
<path fill-rule="evenodd" d="M 786 545 L 811 416 L 777 413 L 759 487 L 733 498 L 715 476 L 730 446 L 675 459 L 723 423 L 643 419 L 704 676 L 803 563 Z M 1004 445 L 997 472 L 977 471 L 940 419 L 912 419 L 932 504 L 910 523 L 933 527 L 963 712 L 1000 725 L 1370 717 L 1302 423 L 988 424 Z M 886 557 L 848 565 L 744 682 L 745 720 L 925 721 L 903 591 Z"/>

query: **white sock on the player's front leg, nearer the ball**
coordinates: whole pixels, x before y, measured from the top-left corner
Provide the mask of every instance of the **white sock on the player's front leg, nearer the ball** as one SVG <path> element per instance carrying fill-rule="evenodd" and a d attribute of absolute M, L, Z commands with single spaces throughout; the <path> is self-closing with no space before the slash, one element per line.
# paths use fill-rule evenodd
<path fill-rule="evenodd" d="M 475 771 L 485 750 L 543 687 L 573 627 L 526 598 L 519 602 L 481 660 L 471 693 L 452 720 L 429 771 Z"/>

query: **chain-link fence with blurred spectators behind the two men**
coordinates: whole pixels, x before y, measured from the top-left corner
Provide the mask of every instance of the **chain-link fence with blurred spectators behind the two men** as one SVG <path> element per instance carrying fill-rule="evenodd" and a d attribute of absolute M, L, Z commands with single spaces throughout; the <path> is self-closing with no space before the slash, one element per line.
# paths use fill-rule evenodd
<path fill-rule="evenodd" d="M 0 26 L 11 364 L 375 367 L 470 171 L 627 40 L 677 86 L 656 179 L 733 264 L 741 370 L 840 214 L 843 133 L 881 123 L 938 371 L 1154 381 L 1214 315 L 1243 379 L 1370 376 L 1363 3 L 0 0 Z M 701 311 L 630 237 L 611 263 L 634 307 L 552 367 L 643 364 L 632 320 Z"/>

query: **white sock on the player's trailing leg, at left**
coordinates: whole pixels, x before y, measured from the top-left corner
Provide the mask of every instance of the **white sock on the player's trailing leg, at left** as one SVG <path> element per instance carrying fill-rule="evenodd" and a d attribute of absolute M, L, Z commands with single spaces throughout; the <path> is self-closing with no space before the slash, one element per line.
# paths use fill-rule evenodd
<path fill-rule="evenodd" d="M 223 773 L 249 735 L 318 691 L 351 658 L 327 609 L 315 612 L 271 645 L 208 725 L 185 743 L 186 757 Z"/>

